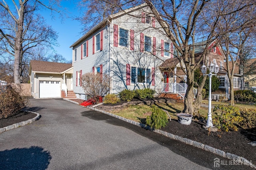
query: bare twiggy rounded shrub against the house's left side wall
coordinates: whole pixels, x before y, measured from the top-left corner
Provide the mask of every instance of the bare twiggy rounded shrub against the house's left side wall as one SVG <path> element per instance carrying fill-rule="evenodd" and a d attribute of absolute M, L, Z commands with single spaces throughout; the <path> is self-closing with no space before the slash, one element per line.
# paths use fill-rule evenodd
<path fill-rule="evenodd" d="M 105 96 L 110 89 L 110 78 L 107 74 L 94 74 L 92 72 L 82 75 L 82 87 L 85 93 L 99 103 L 101 96 Z"/>

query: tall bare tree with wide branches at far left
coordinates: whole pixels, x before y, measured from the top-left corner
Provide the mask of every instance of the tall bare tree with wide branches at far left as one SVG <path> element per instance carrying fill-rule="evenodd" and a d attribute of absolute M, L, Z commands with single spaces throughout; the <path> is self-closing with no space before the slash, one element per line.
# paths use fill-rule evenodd
<path fill-rule="evenodd" d="M 57 34 L 37 11 L 40 8 L 56 10 L 59 1 L 44 4 L 40 0 L 0 2 L 0 51 L 14 57 L 14 82 L 22 82 L 24 53 L 37 45 L 56 44 Z"/>

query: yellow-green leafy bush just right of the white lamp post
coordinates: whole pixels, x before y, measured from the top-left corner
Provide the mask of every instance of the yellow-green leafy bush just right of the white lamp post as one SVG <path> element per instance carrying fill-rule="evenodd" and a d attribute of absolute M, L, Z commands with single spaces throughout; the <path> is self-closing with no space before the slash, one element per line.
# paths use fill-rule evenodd
<path fill-rule="evenodd" d="M 238 130 L 235 123 L 239 123 L 243 120 L 238 107 L 218 105 L 214 107 L 213 111 L 212 123 L 216 125 L 218 129 L 224 129 L 228 132 L 228 128 L 230 127 L 234 129 L 234 131 Z"/>

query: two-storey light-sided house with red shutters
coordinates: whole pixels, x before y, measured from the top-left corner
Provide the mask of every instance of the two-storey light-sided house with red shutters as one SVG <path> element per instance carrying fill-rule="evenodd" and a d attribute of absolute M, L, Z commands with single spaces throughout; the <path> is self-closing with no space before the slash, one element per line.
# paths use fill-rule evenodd
<path fill-rule="evenodd" d="M 110 93 L 151 88 L 161 93 L 162 61 L 173 57 L 173 45 L 146 4 L 110 15 L 71 45 L 73 89 L 87 99 L 82 74 L 110 76 Z"/>

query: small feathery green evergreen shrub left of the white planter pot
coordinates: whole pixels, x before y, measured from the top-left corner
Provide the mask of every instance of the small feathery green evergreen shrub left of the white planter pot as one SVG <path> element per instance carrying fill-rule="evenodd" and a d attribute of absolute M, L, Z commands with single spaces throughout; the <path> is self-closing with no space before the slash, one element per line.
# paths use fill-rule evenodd
<path fill-rule="evenodd" d="M 152 114 L 146 117 L 146 125 L 154 129 L 160 129 L 161 127 L 165 127 L 166 123 L 168 123 L 166 113 L 162 109 L 153 105 Z"/>

